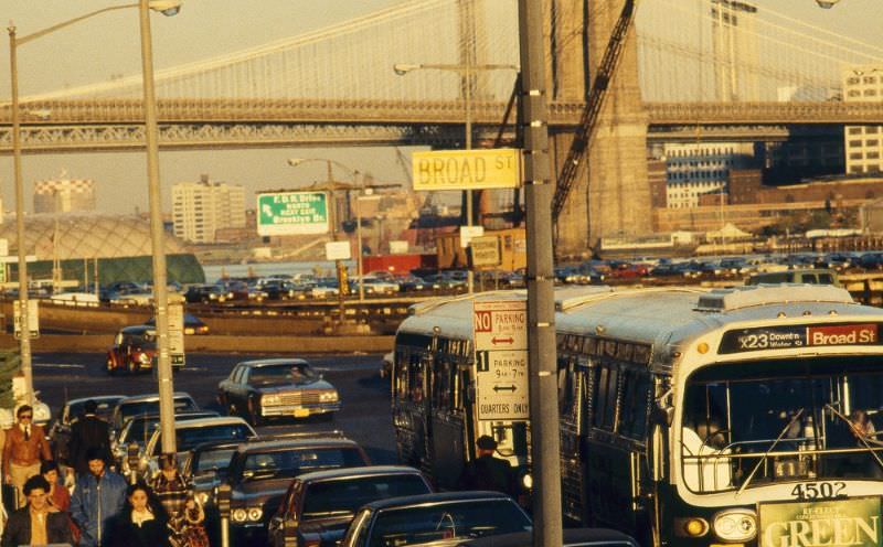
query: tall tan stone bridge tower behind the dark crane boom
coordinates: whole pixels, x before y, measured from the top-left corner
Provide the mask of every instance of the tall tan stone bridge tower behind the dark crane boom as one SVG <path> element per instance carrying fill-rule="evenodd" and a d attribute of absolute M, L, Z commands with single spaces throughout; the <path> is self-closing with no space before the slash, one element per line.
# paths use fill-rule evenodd
<path fill-rule="evenodd" d="M 550 100 L 585 100 L 625 0 L 544 0 L 546 88 Z M 652 232 L 647 172 L 648 117 L 638 87 L 638 47 L 632 29 L 610 83 L 592 150 L 558 218 L 558 256 L 579 256 L 602 237 Z M 557 176 L 573 138 L 550 135 Z M 585 161 L 584 161 L 585 165 Z"/>

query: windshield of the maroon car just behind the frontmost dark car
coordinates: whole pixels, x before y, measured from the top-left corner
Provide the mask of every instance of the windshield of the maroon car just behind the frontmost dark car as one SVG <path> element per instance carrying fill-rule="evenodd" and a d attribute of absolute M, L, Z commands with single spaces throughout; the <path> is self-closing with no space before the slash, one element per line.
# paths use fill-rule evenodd
<path fill-rule="evenodd" d="M 416 474 L 321 481 L 308 486 L 302 517 L 352 515 L 362 505 L 377 500 L 428 493 L 426 483 Z"/>

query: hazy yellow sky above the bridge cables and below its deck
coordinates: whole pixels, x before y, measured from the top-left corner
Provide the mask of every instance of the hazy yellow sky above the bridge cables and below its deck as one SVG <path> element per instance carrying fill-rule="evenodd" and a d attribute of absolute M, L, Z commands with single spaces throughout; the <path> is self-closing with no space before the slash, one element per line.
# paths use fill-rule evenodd
<path fill-rule="evenodd" d="M 126 1 L 0 0 L 0 6 L 6 19 L 13 21 L 19 34 L 24 35 Z M 156 15 L 152 19 L 155 65 L 161 69 L 215 57 L 398 3 L 402 0 L 185 0 L 177 17 Z M 756 0 L 755 3 L 762 9 L 768 7 L 836 32 L 880 42 L 883 0 L 841 0 L 832 10 L 817 8 L 815 0 Z M 139 47 L 136 10 L 107 13 L 77 23 L 20 49 L 21 93 L 49 92 L 68 85 L 107 81 L 113 75 L 137 74 L 140 72 Z M 8 60 L 8 42 L 3 39 L 0 40 L 0 100 L 9 97 Z M 294 186 L 325 176 L 323 165 L 319 163 L 294 171 L 286 165 L 286 160 L 291 157 L 327 157 L 353 169 L 372 172 L 380 180 L 404 179 L 392 149 L 161 152 L 163 199 L 168 204 L 172 183 L 198 180 L 201 173 L 210 174 L 213 180 L 243 184 L 251 191 Z M 29 196 L 34 180 L 53 178 L 64 170 L 72 178 L 96 181 L 98 208 L 102 211 L 124 213 L 146 207 L 146 164 L 140 152 L 33 155 L 24 158 L 23 168 Z M 338 173 L 338 176 L 343 178 L 343 173 Z M 13 207 L 11 180 L 11 161 L 0 158 L 0 185 L 6 210 Z M 31 206 L 29 199 L 29 211 Z"/>

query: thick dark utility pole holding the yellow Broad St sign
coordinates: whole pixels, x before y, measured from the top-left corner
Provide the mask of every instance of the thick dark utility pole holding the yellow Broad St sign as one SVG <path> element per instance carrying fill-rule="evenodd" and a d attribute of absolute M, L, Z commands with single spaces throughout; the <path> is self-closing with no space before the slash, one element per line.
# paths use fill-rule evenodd
<path fill-rule="evenodd" d="M 552 194 L 543 55 L 543 4 L 519 0 L 524 201 L 528 208 L 528 371 L 530 376 L 533 546 L 562 545 Z"/>

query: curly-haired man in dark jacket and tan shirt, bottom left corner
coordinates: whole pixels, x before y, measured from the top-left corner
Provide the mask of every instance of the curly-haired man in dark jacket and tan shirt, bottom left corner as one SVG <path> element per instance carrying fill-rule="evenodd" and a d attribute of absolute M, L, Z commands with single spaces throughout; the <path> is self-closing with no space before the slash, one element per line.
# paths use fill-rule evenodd
<path fill-rule="evenodd" d="M 9 516 L 2 547 L 19 545 L 73 544 L 67 515 L 49 503 L 50 485 L 41 475 L 24 483 L 28 505 Z"/>

